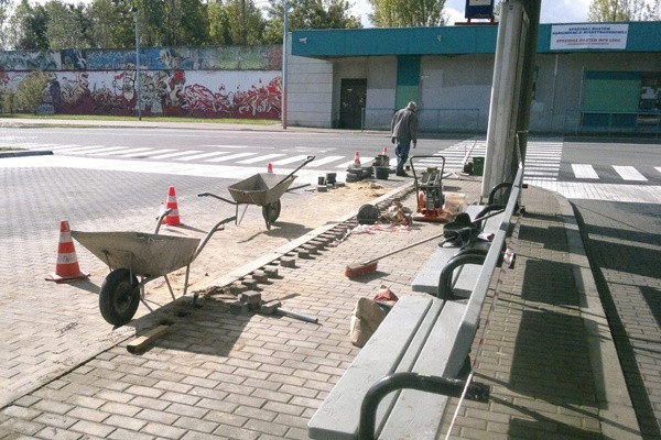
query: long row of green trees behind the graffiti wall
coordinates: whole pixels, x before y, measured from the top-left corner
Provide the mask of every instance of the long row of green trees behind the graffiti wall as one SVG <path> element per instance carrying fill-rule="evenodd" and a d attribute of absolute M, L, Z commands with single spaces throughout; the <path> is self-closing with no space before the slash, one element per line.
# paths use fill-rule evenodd
<path fill-rule="evenodd" d="M 12 50 L 258 45 L 282 42 L 284 3 L 269 0 L 20 0 L 0 46 Z M 398 0 L 400 1 L 400 0 Z M 403 1 L 403 0 L 401 0 Z M 432 0 L 422 0 L 424 2 Z M 437 0 L 434 0 L 437 1 Z M 0 24 L 10 0 L 0 0 Z M 289 1 L 289 30 L 360 28 L 348 0 Z M 424 10 L 425 13 L 430 10 Z M 269 18 L 266 19 L 263 12 Z M 434 16 L 433 11 L 431 11 Z"/>

